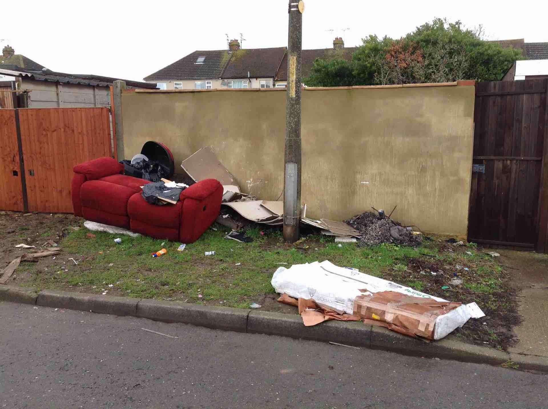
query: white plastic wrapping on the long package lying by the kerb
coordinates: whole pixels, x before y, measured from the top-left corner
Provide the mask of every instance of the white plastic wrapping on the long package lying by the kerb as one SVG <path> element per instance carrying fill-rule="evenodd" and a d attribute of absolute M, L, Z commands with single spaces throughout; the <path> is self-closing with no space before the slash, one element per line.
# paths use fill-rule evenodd
<path fill-rule="evenodd" d="M 447 301 L 373 275 L 335 266 L 329 261 L 294 264 L 290 268 L 278 267 L 271 284 L 278 293 L 286 293 L 293 298 L 312 298 L 318 304 L 347 314 L 353 313 L 354 299 L 357 296 L 379 291 L 396 291 L 414 297 Z M 469 308 L 464 305 L 438 316 L 434 326 L 434 339 L 443 338 L 457 327 L 463 326 L 470 318 Z"/>

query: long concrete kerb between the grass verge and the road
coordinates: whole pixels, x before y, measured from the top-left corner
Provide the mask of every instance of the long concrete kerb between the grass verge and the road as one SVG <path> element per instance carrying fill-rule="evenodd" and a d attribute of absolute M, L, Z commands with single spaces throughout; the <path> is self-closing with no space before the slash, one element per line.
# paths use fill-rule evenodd
<path fill-rule="evenodd" d="M 520 370 L 548 372 L 548 358 L 507 354 L 452 339 L 427 343 L 361 322 L 328 321 L 305 327 L 299 315 L 269 313 L 250 309 L 201 306 L 128 297 L 100 296 L 67 291 L 0 286 L 0 301 L 36 304 L 43 307 L 92 311 L 100 314 L 130 315 L 164 322 L 181 322 L 219 330 L 264 333 L 322 342 L 382 349 L 405 355 L 452 359 L 463 362 L 501 365 L 512 361 Z"/>

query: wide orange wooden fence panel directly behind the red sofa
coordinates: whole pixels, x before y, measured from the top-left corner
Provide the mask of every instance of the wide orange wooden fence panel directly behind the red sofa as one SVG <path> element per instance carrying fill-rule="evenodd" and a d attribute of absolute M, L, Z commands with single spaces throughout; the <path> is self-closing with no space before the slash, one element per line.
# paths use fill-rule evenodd
<path fill-rule="evenodd" d="M 19 110 L 28 211 L 72 213 L 72 168 L 111 156 L 107 108 Z"/>

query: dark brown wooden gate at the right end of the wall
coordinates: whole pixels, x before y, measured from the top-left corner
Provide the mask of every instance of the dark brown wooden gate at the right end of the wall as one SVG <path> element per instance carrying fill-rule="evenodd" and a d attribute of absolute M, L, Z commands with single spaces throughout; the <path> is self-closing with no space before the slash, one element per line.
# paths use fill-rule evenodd
<path fill-rule="evenodd" d="M 476 84 L 468 239 L 548 251 L 548 80 Z"/>

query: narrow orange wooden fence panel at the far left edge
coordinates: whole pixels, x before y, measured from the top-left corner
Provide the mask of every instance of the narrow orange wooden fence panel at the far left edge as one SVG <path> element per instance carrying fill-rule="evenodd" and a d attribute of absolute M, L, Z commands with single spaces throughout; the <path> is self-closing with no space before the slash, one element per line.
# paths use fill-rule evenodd
<path fill-rule="evenodd" d="M 23 210 L 15 110 L 0 110 L 0 210 Z"/>

